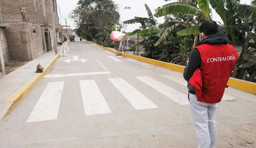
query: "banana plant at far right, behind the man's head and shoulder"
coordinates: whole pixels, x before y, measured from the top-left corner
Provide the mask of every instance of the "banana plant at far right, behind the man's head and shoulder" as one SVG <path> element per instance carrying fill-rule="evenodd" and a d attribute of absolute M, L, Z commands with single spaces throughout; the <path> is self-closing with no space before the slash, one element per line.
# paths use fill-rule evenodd
<path fill-rule="evenodd" d="M 223 21 L 219 31 L 224 32 L 232 45 L 242 46 L 241 54 L 234 68 L 232 77 L 241 79 L 245 69 L 255 67 L 252 61 L 246 56 L 250 43 L 250 32 L 256 26 L 255 1 L 251 5 L 240 4 L 240 0 L 209 0 L 210 5 L 219 14 Z"/>

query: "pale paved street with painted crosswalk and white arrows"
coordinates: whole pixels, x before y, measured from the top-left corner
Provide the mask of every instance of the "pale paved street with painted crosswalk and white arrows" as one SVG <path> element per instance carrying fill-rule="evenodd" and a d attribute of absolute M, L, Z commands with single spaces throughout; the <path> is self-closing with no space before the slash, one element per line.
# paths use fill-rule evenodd
<path fill-rule="evenodd" d="M 197 147 L 182 73 L 78 38 L 69 49 L 0 121 L 0 148 Z M 255 98 L 226 89 L 218 148 L 256 147 Z"/>

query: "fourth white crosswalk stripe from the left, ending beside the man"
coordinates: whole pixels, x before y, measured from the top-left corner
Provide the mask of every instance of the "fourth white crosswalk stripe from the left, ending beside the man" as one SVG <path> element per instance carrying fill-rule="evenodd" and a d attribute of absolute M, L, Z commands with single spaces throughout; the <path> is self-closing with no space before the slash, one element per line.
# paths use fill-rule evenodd
<path fill-rule="evenodd" d="M 156 81 L 155 79 L 152 79 L 148 76 L 142 76 L 142 77 L 136 77 L 140 81 L 146 83 L 153 89 L 156 89 L 156 91 L 159 91 L 166 97 L 172 99 L 176 103 L 179 103 L 180 105 L 188 105 L 188 96 L 173 89 L 172 87 L 169 87 L 159 81 Z"/>

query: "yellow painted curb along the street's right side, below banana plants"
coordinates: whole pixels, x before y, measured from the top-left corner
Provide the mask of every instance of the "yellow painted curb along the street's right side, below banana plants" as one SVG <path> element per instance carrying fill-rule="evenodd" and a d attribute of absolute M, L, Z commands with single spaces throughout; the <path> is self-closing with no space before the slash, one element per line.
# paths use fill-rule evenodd
<path fill-rule="evenodd" d="M 87 40 L 84 39 L 84 41 L 87 41 Z M 106 49 L 108 51 L 116 52 L 116 50 L 113 50 L 113 49 L 110 49 L 110 48 L 107 48 L 107 47 L 103 47 L 103 46 L 98 45 L 96 43 L 93 43 L 91 41 L 87 41 L 87 42 L 92 43 L 92 44 L 94 44 L 98 47 L 102 47 L 103 49 Z M 184 69 L 185 69 L 185 66 L 182 66 L 182 65 L 167 63 L 167 62 L 158 61 L 158 60 L 155 60 L 155 59 L 140 57 L 140 56 L 137 56 L 137 55 L 131 55 L 131 54 L 122 53 L 122 52 L 119 52 L 119 55 L 122 55 L 124 57 L 130 57 L 132 59 L 137 59 L 138 61 L 142 61 L 142 62 L 145 62 L 145 63 L 150 63 L 152 65 L 156 65 L 156 66 L 159 66 L 159 67 L 164 67 L 164 68 L 172 69 L 172 70 L 175 70 L 175 71 L 180 71 L 182 73 L 184 72 Z M 231 86 L 231 87 L 243 90 L 243 91 L 248 91 L 250 93 L 256 94 L 256 83 L 253 83 L 253 82 L 244 81 L 244 80 L 240 80 L 240 79 L 230 77 L 230 79 L 228 80 L 228 85 Z"/>

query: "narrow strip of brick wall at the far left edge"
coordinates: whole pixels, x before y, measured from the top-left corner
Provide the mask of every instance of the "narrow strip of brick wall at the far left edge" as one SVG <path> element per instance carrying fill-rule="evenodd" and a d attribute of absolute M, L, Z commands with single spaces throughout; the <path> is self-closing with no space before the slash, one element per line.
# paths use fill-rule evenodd
<path fill-rule="evenodd" d="M 2 45 L 3 55 L 4 55 L 4 63 L 8 63 L 9 61 L 9 51 L 8 45 L 6 41 L 5 28 L 1 28 L 0 26 L 0 43 Z"/>

